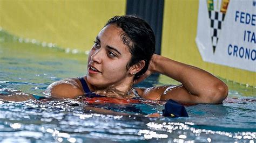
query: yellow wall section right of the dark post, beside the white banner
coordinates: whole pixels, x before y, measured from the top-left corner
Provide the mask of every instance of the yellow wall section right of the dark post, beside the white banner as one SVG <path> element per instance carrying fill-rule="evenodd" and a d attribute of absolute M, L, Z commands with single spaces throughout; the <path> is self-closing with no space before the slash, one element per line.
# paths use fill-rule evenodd
<path fill-rule="evenodd" d="M 197 0 L 165 0 L 161 54 L 194 65 L 214 75 L 256 87 L 256 73 L 204 62 L 198 51 Z"/>

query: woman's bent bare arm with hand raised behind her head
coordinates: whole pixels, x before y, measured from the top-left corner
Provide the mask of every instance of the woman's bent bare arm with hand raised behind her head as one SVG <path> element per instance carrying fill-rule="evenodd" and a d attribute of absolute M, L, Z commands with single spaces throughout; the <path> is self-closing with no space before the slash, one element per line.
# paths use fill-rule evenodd
<path fill-rule="evenodd" d="M 185 65 L 154 54 L 142 80 L 151 73 L 160 73 L 179 81 L 177 87 L 153 87 L 143 91 L 148 99 L 173 99 L 181 103 L 221 103 L 228 94 L 227 85 L 205 70 Z"/>

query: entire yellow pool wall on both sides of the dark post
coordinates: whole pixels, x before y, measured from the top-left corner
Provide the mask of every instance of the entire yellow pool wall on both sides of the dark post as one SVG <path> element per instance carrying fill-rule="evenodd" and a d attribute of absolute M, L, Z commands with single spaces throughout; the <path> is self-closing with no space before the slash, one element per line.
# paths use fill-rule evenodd
<path fill-rule="evenodd" d="M 0 26 L 22 38 L 89 51 L 107 19 L 124 15 L 126 1 L 0 1 Z M 161 55 L 256 87 L 256 73 L 205 62 L 195 38 L 198 1 L 165 0 Z"/>

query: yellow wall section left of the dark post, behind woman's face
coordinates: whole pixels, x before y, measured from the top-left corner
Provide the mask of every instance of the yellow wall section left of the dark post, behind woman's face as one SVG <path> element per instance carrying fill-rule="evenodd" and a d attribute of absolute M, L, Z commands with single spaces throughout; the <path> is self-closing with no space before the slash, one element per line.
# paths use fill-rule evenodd
<path fill-rule="evenodd" d="M 100 28 L 124 15 L 125 0 L 0 0 L 0 26 L 22 38 L 86 51 Z"/>

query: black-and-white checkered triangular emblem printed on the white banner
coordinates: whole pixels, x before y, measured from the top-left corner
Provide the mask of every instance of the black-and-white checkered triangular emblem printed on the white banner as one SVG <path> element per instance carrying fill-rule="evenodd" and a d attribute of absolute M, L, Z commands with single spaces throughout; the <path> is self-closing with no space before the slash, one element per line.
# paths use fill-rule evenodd
<path fill-rule="evenodd" d="M 211 38 L 212 38 L 212 47 L 213 53 L 218 43 L 222 22 L 225 18 L 225 13 L 219 11 L 208 11 L 209 18 L 211 20 Z"/>

